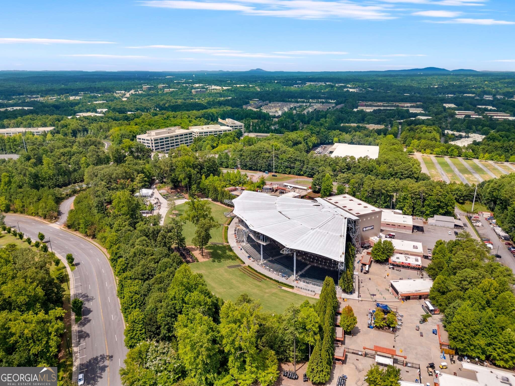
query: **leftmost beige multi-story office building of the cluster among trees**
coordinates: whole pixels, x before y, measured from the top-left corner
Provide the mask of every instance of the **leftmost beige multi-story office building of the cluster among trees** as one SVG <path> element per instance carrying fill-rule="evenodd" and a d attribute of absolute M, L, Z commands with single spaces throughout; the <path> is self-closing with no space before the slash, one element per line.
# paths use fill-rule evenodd
<path fill-rule="evenodd" d="M 180 145 L 191 145 L 193 143 L 193 132 L 181 129 L 180 126 L 167 127 L 136 135 L 136 141 L 152 151 L 168 151 Z"/>

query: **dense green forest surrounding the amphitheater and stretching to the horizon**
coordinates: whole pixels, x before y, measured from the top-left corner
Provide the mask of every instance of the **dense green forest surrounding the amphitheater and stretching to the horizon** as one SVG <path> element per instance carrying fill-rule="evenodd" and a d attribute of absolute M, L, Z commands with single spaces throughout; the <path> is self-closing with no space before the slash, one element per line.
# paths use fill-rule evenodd
<path fill-rule="evenodd" d="M 164 93 L 157 87 L 162 83 L 177 90 Z M 195 83 L 230 88 L 193 95 Z M 155 87 L 130 94 L 126 100 L 114 94 L 141 90 L 142 84 Z M 349 87 L 358 92 L 344 90 Z M 70 100 L 79 93 L 90 94 Z M 294 339 L 297 360 L 309 361 L 308 377 L 323 383 L 329 379 L 334 349 L 336 295 L 332 279 L 324 283 L 315 305 L 291 305 L 283 314 L 265 312 L 246 294 L 235 302 L 219 299 L 209 291 L 202 275 L 183 265 L 177 253 L 184 247 L 180 218 L 159 225 L 159 216 L 143 217 L 140 210 L 149 207 L 134 193 L 156 180 L 188 192 L 185 216 L 199 230 L 197 239 L 208 240 L 213 218 L 206 205 L 196 200 L 197 195 L 222 202 L 232 198 L 226 187 L 254 190 L 265 184 L 263 179 L 250 181 L 239 170 L 222 172 L 221 168 L 274 168 L 279 173 L 312 178 L 314 192 L 322 197 L 332 193 L 335 182 L 338 194 L 348 192 L 378 207 L 402 209 L 406 215 L 423 218 L 453 216 L 455 202 L 471 200 L 474 187 L 432 181 L 409 153 L 513 161 L 515 121 L 455 117 L 455 110 L 482 112 L 477 106 L 484 104 L 513 114 L 513 94 L 512 75 L 483 73 L 138 73 L 136 78 L 131 72 L 0 72 L 0 109 L 32 108 L 0 111 L 0 128 L 55 127 L 41 136 L 0 137 L 0 152 L 20 155 L 17 160 L 0 159 L 0 210 L 54 220 L 60 202 L 77 194 L 67 226 L 104 245 L 118 279 L 127 323 L 125 344 L 130 349 L 121 371 L 125 385 L 273 384 L 278 363 L 293 360 Z M 42 99 L 31 100 L 27 95 Z M 484 95 L 494 95 L 494 99 L 485 101 Z M 272 117 L 243 109 L 252 99 L 323 100 L 337 108 L 307 114 L 299 109 Z M 419 113 L 399 108 L 357 110 L 359 101 L 420 102 L 423 115 L 431 118 L 417 118 Z M 445 108 L 443 103 L 454 103 L 457 108 Z M 102 116 L 73 117 L 98 108 L 108 111 Z M 196 138 L 190 147 L 171 149 L 161 158 L 151 157 L 150 150 L 135 141 L 136 135 L 147 130 L 215 124 L 218 118 L 244 122 L 247 133 L 272 135 L 255 138 L 237 130 Z M 382 127 L 368 129 L 367 124 Z M 461 148 L 451 143 L 444 130 L 478 133 L 485 138 Z M 112 144 L 107 150 L 102 139 Z M 313 152 L 320 144 L 335 142 L 377 145 L 379 157 L 355 159 Z M 500 225 L 513 237 L 514 175 L 478 186 L 478 199 L 494 208 Z M 354 254 L 349 246 L 348 253 Z M 2 278 L 13 278 L 21 283 L 20 288 L 26 287 L 24 280 L 37 280 L 41 287 L 37 292 L 41 299 L 35 304 L 22 307 L 11 297 L 0 302 L 1 330 L 7 334 L 0 341 L 15 342 L 0 347 L 5 365 L 55 363 L 55 336 L 30 357 L 23 342 L 8 336 L 21 320 L 27 326 L 50 324 L 59 335 L 62 293 L 49 276 L 49 259 L 43 252 L 14 248 L 3 248 L 0 253 Z M 26 273 L 16 267 L 27 268 Z M 348 268 L 352 270 L 350 264 Z M 435 280 L 431 299 L 445 311 L 445 327 L 456 349 L 512 367 L 512 273 L 492 261 L 484 247 L 467 235 L 439 241 L 427 270 Z M 339 285 L 350 292 L 352 277 L 342 276 Z M 2 286 L 4 294 L 15 292 L 7 282 Z M 472 313 L 477 310 L 480 318 Z M 345 309 L 342 323 L 346 331 L 352 330 L 352 309 Z M 291 328 L 294 324 L 295 329 Z M 469 325 L 472 328 L 468 329 Z"/>

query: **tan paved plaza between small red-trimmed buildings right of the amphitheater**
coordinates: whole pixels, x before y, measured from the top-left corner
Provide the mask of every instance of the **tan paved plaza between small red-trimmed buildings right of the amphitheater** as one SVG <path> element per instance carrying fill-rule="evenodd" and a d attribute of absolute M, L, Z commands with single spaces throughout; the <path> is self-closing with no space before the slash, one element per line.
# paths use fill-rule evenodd
<path fill-rule="evenodd" d="M 426 371 L 428 363 L 433 362 L 438 366 L 440 362 L 446 361 L 449 368 L 441 371 L 448 374 L 457 372 L 459 363 L 451 364 L 447 355 L 446 359 L 440 358 L 438 337 L 432 333 L 432 330 L 436 328 L 437 324 L 441 325 L 442 317 L 433 315 L 426 323 L 420 324 L 420 317 L 425 313 L 422 309 L 424 301 L 408 300 L 401 302 L 390 292 L 390 280 L 401 278 L 417 279 L 420 276 L 417 271 L 390 270 L 388 264 L 377 264 L 375 262 L 372 262 L 368 274 L 359 273 L 361 300 L 349 299 L 343 302 L 344 306 L 350 305 L 354 309 L 357 318 L 357 326 L 352 331 L 353 336 L 346 336 L 345 346 L 357 350 L 362 350 L 363 347 L 372 348 L 374 345 L 396 349 L 397 354 L 405 355 L 408 362 L 420 364 L 423 384 L 426 382 L 432 383 L 433 377 L 428 376 Z M 402 326 L 397 334 L 368 328 L 368 309 L 375 308 L 375 302 L 398 308 L 398 313 L 402 315 L 400 317 Z M 420 327 L 418 331 L 415 329 L 416 325 Z M 371 358 L 347 354 L 344 373 L 349 377 L 348 382 L 350 383 L 348 384 L 363 384 L 363 377 L 373 363 L 374 360 Z M 398 367 L 401 368 L 402 379 L 415 381 L 417 370 L 413 367 Z"/>

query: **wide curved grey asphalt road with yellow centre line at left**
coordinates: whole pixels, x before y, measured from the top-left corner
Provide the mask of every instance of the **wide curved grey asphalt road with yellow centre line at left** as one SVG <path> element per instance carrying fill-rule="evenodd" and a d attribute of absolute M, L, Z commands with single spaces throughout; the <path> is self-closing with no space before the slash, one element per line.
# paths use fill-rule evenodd
<path fill-rule="evenodd" d="M 42 232 L 54 252 L 61 256 L 73 254 L 75 292 L 84 302 L 83 318 L 77 325 L 77 336 L 73 337 L 79 347 L 78 372 L 84 373 L 86 385 L 121 386 L 118 371 L 127 354 L 124 321 L 114 275 L 104 253 L 56 224 L 16 215 L 7 215 L 6 224 L 19 226 L 32 240 L 37 240 L 38 232 Z"/>

